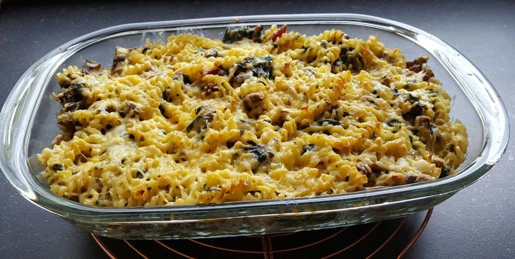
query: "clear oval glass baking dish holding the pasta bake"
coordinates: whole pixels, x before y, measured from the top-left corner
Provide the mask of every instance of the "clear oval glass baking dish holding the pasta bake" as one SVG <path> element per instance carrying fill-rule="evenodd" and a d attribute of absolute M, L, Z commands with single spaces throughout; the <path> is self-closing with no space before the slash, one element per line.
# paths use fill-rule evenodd
<path fill-rule="evenodd" d="M 343 195 L 255 202 L 127 209 L 90 207 L 58 197 L 41 177 L 37 153 L 59 134 L 51 97 L 55 73 L 84 59 L 109 64 L 116 45 L 138 47 L 165 41 L 170 34 L 221 38 L 226 27 L 289 25 L 319 34 L 342 29 L 351 37 L 378 35 L 406 59 L 430 56 L 430 66 L 453 97 L 451 116 L 467 127 L 467 160 L 457 174 L 437 181 Z M 425 31 L 400 22 L 356 14 L 259 15 L 120 25 L 64 43 L 32 65 L 18 80 L 0 113 L 0 165 L 20 193 L 39 207 L 97 235 L 123 239 L 169 239 L 270 234 L 382 221 L 423 211 L 486 174 L 501 158 L 509 139 L 504 104 L 493 86 L 466 57 Z"/>

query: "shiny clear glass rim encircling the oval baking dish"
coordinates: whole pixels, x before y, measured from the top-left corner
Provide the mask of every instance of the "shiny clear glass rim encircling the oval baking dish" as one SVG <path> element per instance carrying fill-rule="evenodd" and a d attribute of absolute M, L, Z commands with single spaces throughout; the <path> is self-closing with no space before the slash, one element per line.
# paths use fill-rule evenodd
<path fill-rule="evenodd" d="M 75 52 L 92 45 L 97 41 L 102 41 L 116 36 L 127 34 L 137 34 L 142 31 L 162 31 L 172 30 L 174 27 L 181 29 L 188 27 L 216 27 L 216 26 L 238 26 L 245 24 L 269 25 L 271 23 L 317 25 L 320 23 L 338 25 L 362 25 L 387 31 L 403 36 L 410 41 L 420 45 L 434 57 L 451 74 L 453 80 L 458 84 L 467 95 L 469 101 L 474 105 L 483 126 L 483 143 L 481 153 L 469 165 L 462 168 L 459 174 L 437 179 L 425 183 L 415 183 L 392 188 L 379 188 L 376 190 L 365 190 L 355 193 L 345 193 L 342 195 L 324 195 L 316 197 L 298 197 L 280 200 L 257 200 L 244 202 L 226 202 L 221 204 L 194 204 L 181 206 L 157 206 L 157 207 L 128 207 L 128 208 L 107 208 L 92 207 L 78 202 L 67 200 L 64 197 L 55 195 L 50 189 L 43 189 L 38 186 L 39 181 L 34 179 L 34 174 L 30 172 L 27 165 L 29 140 L 31 138 L 30 129 L 34 123 L 35 114 L 27 117 L 27 113 L 39 107 L 43 92 L 48 87 L 48 78 L 55 71 L 56 66 L 60 66 L 64 59 L 74 55 Z M 455 69 L 456 67 L 460 70 Z M 453 69 L 454 68 L 454 69 Z M 467 72 L 465 72 L 467 71 Z M 472 73 L 472 75 L 465 75 Z M 29 94 L 32 91 L 37 94 Z M 35 101 L 35 102 L 34 102 Z M 69 218 L 80 218 L 78 215 L 105 216 L 107 214 L 125 214 L 125 216 L 138 216 L 142 214 L 194 214 L 196 212 L 221 212 L 225 210 L 247 212 L 249 216 L 270 216 L 272 213 L 260 214 L 259 209 L 263 207 L 308 207 L 320 203 L 338 203 L 342 206 L 356 204 L 357 201 L 367 200 L 369 202 L 378 200 L 388 200 L 391 202 L 416 200 L 427 196 L 444 195 L 454 193 L 465 188 L 484 176 L 498 160 L 507 148 L 509 141 L 509 120 L 507 110 L 502 100 L 497 94 L 493 85 L 458 50 L 451 47 L 441 39 L 429 34 L 421 29 L 410 25 L 384 18 L 370 15 L 359 15 L 352 13 L 324 13 L 324 14 L 292 14 L 292 15 L 249 15 L 231 16 L 222 18 L 201 18 L 187 20 L 170 20 L 160 22 L 139 22 L 125 25 L 117 25 L 93 31 L 78 38 L 74 38 L 67 43 L 60 45 L 48 52 L 35 62 L 21 76 L 18 83 L 6 99 L 4 107 L 0 113 L 0 168 L 8 181 L 15 186 L 22 196 L 34 204 L 47 209 L 53 213 Z M 18 131 L 17 131 L 18 130 Z M 17 161 L 16 158 L 24 158 Z M 40 184 L 41 185 L 41 184 Z M 408 193 L 408 195 L 406 195 Z M 399 199 L 398 196 L 402 196 Z M 363 206 L 372 206 L 370 203 Z M 345 208 L 345 207 L 344 207 Z M 254 213 L 249 213 L 253 211 Z M 325 211 L 325 210 L 324 210 Z M 322 212 L 322 211 L 317 211 Z M 313 213 L 313 211 L 291 212 L 292 214 Z M 287 216 L 287 214 L 284 214 Z M 134 218 L 134 217 L 133 217 Z M 90 218 L 94 221 L 97 219 Z M 144 218 L 142 218 L 144 220 Z M 200 219 L 210 219 L 204 217 Z M 180 220 L 185 221 L 185 220 Z M 116 221 L 109 221 L 114 223 Z M 122 221 L 126 223 L 125 221 Z M 141 221 L 139 221 L 141 222 Z M 150 222 L 150 221 L 148 221 Z M 159 221 L 163 223 L 163 221 Z"/>

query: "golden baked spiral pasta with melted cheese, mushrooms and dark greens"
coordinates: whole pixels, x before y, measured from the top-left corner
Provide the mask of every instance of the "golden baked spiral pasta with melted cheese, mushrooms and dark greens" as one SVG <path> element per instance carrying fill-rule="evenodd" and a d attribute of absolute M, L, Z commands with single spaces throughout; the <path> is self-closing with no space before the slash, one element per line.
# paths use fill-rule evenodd
<path fill-rule="evenodd" d="M 377 36 L 287 26 L 172 35 L 57 73 L 50 189 L 99 207 L 349 193 L 432 181 L 467 132 L 427 66 Z"/>

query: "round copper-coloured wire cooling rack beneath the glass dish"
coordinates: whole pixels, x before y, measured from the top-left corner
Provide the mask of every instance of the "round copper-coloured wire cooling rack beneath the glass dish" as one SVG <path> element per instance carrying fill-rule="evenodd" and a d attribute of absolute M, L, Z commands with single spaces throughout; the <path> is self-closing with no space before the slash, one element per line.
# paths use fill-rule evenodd
<path fill-rule="evenodd" d="M 277 235 L 210 239 L 120 240 L 92 235 L 109 258 L 401 258 L 432 209 L 420 216 Z"/>

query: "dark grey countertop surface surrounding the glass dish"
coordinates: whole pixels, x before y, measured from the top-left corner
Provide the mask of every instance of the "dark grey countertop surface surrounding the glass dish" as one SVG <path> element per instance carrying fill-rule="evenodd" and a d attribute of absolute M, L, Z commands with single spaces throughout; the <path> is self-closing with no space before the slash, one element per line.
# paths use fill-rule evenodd
<path fill-rule="evenodd" d="M 60 3 L 63 2 L 63 3 Z M 130 22 L 277 13 L 363 13 L 404 22 L 450 43 L 495 85 L 515 128 L 514 1 L 93 1 L 0 10 L 0 104 L 46 52 L 90 31 Z M 395 2 L 395 3 L 394 3 Z M 404 3 L 403 3 L 404 2 Z M 515 258 L 515 146 L 490 173 L 434 209 L 406 258 Z M 104 258 L 88 233 L 23 199 L 0 174 L 0 258 Z"/>

